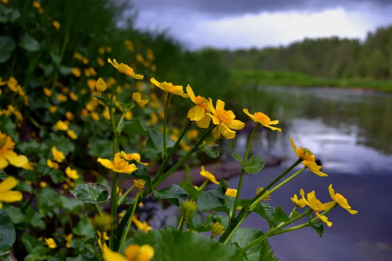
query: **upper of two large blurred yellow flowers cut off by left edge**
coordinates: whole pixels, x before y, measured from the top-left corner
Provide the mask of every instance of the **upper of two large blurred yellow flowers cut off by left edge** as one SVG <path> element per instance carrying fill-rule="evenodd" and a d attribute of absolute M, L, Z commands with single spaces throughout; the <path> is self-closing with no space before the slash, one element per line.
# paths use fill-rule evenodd
<path fill-rule="evenodd" d="M 22 167 L 28 163 L 25 155 L 18 155 L 14 152 L 15 143 L 11 137 L 0 132 L 0 170 L 9 164 Z"/>

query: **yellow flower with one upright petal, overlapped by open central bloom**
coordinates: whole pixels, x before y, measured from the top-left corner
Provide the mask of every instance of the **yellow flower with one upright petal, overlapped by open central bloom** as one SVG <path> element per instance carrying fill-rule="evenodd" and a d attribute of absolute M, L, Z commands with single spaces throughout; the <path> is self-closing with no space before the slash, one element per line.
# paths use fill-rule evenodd
<path fill-rule="evenodd" d="M 189 84 L 187 86 L 187 93 L 192 102 L 196 104 L 188 111 L 187 117 L 192 121 L 196 121 L 197 126 L 200 128 L 208 128 L 211 121 L 211 118 L 206 115 L 207 112 L 210 112 L 208 100 L 200 95 L 195 96 L 195 93 Z"/>

